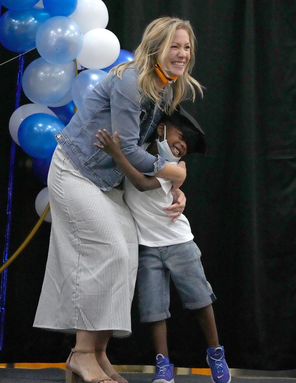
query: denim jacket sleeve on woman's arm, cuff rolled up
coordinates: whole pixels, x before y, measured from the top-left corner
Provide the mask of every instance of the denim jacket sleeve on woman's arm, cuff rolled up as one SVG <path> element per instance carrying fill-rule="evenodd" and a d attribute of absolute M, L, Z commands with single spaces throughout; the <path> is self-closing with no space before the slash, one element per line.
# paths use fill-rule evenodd
<path fill-rule="evenodd" d="M 140 172 L 154 175 L 166 165 L 159 155 L 154 156 L 138 146 L 140 138 L 141 103 L 137 76 L 129 75 L 127 68 L 122 80 L 114 75 L 110 82 L 110 107 L 112 133 L 118 133 L 121 150 L 129 162 Z"/>

